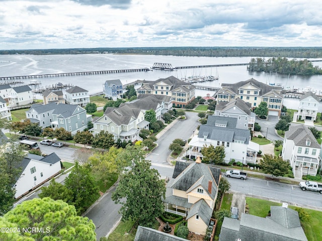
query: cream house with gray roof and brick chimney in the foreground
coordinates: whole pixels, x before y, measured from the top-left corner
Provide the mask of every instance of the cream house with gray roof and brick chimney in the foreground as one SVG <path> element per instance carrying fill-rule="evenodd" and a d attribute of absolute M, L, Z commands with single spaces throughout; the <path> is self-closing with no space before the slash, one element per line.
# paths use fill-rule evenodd
<path fill-rule="evenodd" d="M 167 184 L 165 211 L 186 217 L 189 231 L 206 234 L 221 178 L 220 169 L 201 163 L 177 162 Z"/>

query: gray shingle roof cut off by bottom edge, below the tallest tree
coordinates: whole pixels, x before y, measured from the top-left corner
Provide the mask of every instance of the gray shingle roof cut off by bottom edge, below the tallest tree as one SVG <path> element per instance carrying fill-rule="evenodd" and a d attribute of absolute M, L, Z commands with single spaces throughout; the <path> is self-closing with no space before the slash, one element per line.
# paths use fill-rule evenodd
<path fill-rule="evenodd" d="M 138 226 L 134 241 L 187 241 L 187 239 L 160 232 L 149 227 Z"/>

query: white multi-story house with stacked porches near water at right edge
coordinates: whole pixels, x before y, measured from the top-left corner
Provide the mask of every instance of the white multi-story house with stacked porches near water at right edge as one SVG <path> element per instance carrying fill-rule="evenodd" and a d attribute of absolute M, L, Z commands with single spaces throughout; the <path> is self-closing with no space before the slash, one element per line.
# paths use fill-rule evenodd
<path fill-rule="evenodd" d="M 300 98 L 297 120 L 316 120 L 320 100 L 312 92 L 307 92 Z"/>

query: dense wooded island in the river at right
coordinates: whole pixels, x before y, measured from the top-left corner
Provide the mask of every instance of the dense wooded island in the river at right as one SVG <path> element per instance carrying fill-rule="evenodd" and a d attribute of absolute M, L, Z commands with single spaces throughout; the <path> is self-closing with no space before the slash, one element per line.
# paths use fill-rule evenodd
<path fill-rule="evenodd" d="M 307 59 L 297 60 L 287 58 L 252 58 L 247 69 L 249 71 L 264 71 L 264 72 L 277 72 L 285 74 L 299 74 L 299 75 L 312 75 L 322 74 L 322 70 L 318 66 L 313 66 L 312 62 Z"/>

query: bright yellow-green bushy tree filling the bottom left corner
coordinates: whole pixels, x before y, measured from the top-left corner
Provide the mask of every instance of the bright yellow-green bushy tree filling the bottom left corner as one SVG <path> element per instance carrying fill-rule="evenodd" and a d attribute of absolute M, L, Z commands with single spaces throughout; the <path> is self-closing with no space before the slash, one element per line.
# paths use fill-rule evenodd
<path fill-rule="evenodd" d="M 77 216 L 74 206 L 51 198 L 24 201 L 0 218 L 0 224 L 20 228 L 14 235 L 0 232 L 3 241 L 96 241 L 92 220 Z M 26 227 L 43 228 L 43 231 L 23 232 Z"/>

